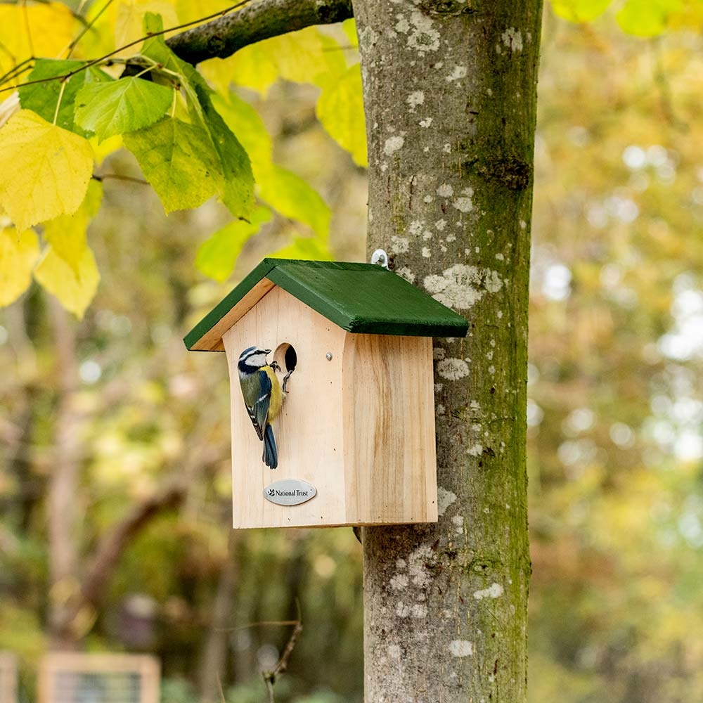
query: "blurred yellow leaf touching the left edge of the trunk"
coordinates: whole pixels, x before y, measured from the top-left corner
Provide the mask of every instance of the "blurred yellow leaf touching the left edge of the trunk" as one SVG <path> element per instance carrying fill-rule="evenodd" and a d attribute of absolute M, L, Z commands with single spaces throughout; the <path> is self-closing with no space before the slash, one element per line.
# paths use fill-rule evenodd
<path fill-rule="evenodd" d="M 316 112 L 325 130 L 352 155 L 354 163 L 368 166 L 361 68 L 358 63 L 349 67 L 339 80 L 323 88 Z"/>

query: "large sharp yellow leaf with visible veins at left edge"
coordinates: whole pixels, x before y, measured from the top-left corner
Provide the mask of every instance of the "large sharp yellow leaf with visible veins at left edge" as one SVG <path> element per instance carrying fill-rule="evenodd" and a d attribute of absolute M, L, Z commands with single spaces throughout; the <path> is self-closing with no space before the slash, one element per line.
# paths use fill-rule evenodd
<path fill-rule="evenodd" d="M 0 205 L 20 231 L 76 212 L 92 173 L 88 141 L 31 110 L 0 129 Z"/>

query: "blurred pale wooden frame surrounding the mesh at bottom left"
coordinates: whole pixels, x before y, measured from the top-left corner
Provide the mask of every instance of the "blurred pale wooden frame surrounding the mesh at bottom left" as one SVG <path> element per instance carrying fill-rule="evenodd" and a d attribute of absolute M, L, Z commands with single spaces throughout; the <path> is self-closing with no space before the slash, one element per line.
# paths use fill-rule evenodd
<path fill-rule="evenodd" d="M 135 673 L 139 676 L 139 692 L 135 703 L 159 703 L 161 665 L 148 654 L 84 654 L 82 652 L 51 652 L 39 664 L 38 703 L 56 703 L 65 698 L 58 677 L 65 673 L 91 673 L 110 676 L 115 673 Z M 65 692 L 64 692 L 65 695 Z"/>

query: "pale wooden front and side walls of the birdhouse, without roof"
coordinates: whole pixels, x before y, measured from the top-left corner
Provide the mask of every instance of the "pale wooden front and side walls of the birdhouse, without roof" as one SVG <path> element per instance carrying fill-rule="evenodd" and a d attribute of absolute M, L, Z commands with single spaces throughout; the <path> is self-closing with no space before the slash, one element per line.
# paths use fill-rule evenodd
<path fill-rule="evenodd" d="M 286 343 L 297 367 L 273 423 L 278 469 L 270 470 L 245 411 L 237 361 L 252 344 L 276 350 Z M 431 340 L 351 335 L 277 287 L 228 330 L 224 346 L 234 527 L 437 520 Z M 316 497 L 294 506 L 266 501 L 264 488 L 283 479 L 313 484 Z"/>

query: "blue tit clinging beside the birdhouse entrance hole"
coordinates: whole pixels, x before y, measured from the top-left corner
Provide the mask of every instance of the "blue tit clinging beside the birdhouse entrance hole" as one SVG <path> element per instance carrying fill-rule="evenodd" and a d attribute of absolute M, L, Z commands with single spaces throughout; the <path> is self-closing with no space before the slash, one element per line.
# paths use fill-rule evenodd
<path fill-rule="evenodd" d="M 271 421 L 280 411 L 283 394 L 273 366 L 266 361 L 267 354 L 271 354 L 271 349 L 248 347 L 240 354 L 237 368 L 247 413 L 259 439 L 264 441 L 263 461 L 266 466 L 275 469 L 278 466 L 278 450 Z"/>

